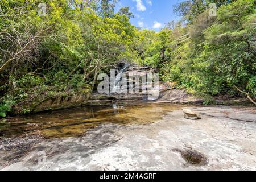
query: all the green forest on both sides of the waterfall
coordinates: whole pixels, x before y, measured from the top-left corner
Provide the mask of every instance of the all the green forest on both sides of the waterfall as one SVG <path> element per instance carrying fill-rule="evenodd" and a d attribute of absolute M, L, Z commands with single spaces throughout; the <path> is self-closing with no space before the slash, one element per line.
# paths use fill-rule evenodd
<path fill-rule="evenodd" d="M 39 94 L 79 92 L 124 60 L 159 68 L 177 88 L 216 96 L 235 95 L 237 86 L 255 96 L 254 0 L 183 1 L 175 6 L 183 22 L 159 32 L 132 26 L 129 7 L 114 14 L 116 2 L 1 1 L 1 101 L 11 107 Z M 47 5 L 45 16 L 39 3 Z M 216 18 L 209 3 L 217 4 Z"/>

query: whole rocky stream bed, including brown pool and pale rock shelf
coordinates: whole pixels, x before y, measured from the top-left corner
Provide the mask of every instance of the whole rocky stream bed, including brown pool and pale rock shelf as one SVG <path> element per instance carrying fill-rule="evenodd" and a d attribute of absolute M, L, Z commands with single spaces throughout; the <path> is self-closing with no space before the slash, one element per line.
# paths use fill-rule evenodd
<path fill-rule="evenodd" d="M 246 103 L 243 98 L 216 98 L 229 106 L 203 106 L 203 100 L 171 83 L 162 82 L 159 89 L 154 101 L 143 94 L 89 96 L 87 91 L 47 98 L 35 112 L 52 111 L 0 119 L 0 169 L 256 169 L 254 106 L 232 106 Z M 183 109 L 200 117 L 184 117 Z"/>

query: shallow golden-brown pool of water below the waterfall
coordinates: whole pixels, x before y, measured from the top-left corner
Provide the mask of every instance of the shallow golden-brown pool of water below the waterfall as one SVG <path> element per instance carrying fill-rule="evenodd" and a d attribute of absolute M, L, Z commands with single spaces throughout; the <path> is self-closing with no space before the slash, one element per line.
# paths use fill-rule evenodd
<path fill-rule="evenodd" d="M 181 107 L 170 104 L 113 104 L 65 109 L 26 117 L 12 117 L 0 120 L 0 138 L 35 133 L 47 138 L 79 136 L 101 123 L 118 123 L 120 125 L 152 123 L 165 113 Z"/>

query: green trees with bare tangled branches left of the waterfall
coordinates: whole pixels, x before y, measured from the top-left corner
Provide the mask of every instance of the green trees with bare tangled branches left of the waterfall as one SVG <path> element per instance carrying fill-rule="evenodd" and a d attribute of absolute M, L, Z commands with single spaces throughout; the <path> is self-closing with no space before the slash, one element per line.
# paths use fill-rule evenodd
<path fill-rule="evenodd" d="M 47 14 L 39 16 L 39 3 Z M 1 96 L 19 103 L 40 94 L 79 92 L 120 60 L 134 60 L 129 8 L 116 1 L 1 1 Z M 1 99 L 3 100 L 3 99 Z"/>

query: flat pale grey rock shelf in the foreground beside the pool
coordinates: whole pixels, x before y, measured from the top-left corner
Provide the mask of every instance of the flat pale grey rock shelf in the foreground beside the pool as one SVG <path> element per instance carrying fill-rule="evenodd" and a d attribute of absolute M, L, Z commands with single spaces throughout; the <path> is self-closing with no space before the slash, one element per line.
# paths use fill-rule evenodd
<path fill-rule="evenodd" d="M 43 140 L 0 169 L 256 170 L 255 107 L 186 108 L 202 119 L 185 119 L 179 109 L 151 124 L 105 123 L 83 137 Z M 197 152 L 203 162 L 189 163 L 185 157 Z M 6 155 L 0 152 L 0 163 Z"/>

